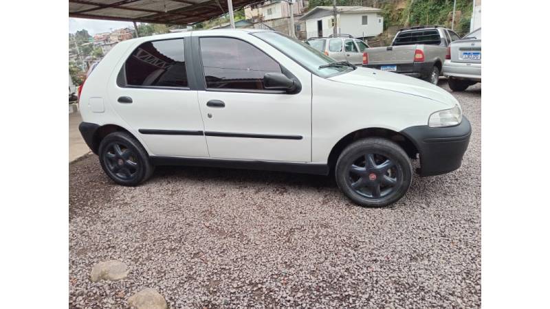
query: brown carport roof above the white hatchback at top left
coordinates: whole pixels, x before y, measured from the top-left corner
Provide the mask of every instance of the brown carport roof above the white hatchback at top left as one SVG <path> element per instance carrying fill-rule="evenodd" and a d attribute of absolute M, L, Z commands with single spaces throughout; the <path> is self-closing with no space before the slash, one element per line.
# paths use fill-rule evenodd
<path fill-rule="evenodd" d="M 259 0 L 232 0 L 233 9 Z M 69 0 L 69 17 L 186 25 L 228 12 L 226 0 Z"/>

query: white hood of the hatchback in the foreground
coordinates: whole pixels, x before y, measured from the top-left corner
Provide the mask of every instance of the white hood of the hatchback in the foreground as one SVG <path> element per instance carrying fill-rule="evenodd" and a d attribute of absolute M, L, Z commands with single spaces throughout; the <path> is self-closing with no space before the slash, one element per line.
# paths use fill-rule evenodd
<path fill-rule="evenodd" d="M 354 71 L 333 76 L 329 78 L 329 80 L 417 95 L 439 102 L 448 108 L 452 108 L 454 105 L 459 104 L 450 93 L 434 84 L 419 80 L 418 78 L 377 69 L 358 67 Z"/>

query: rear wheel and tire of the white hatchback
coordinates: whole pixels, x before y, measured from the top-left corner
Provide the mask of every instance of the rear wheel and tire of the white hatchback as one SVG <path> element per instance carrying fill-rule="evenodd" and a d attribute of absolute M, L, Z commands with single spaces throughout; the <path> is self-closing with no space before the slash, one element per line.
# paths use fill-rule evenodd
<path fill-rule="evenodd" d="M 104 137 L 98 155 L 105 174 L 119 185 L 139 185 L 155 170 L 142 144 L 126 132 L 114 132 Z"/>

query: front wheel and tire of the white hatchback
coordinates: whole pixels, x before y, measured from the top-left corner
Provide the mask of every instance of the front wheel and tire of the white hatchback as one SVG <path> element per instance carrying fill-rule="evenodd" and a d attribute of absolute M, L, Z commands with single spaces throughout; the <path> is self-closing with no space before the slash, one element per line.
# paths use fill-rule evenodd
<path fill-rule="evenodd" d="M 353 203 L 366 207 L 391 205 L 412 182 L 412 164 L 393 141 L 360 139 L 342 151 L 336 163 L 336 183 Z"/>

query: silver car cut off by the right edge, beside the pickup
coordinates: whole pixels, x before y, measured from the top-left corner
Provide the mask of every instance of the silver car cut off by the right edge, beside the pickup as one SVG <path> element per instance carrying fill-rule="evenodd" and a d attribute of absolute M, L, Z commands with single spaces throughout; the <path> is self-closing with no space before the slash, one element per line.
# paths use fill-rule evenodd
<path fill-rule="evenodd" d="M 452 91 L 464 91 L 481 82 L 481 28 L 466 34 L 450 47 L 450 59 L 443 63 L 443 75 Z"/>

